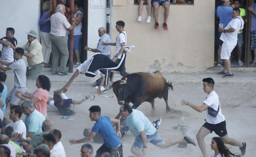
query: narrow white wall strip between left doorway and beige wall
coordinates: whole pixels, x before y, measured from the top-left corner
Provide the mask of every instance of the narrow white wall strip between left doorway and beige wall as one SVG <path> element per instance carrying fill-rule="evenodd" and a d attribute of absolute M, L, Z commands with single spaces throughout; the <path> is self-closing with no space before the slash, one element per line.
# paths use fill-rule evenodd
<path fill-rule="evenodd" d="M 92 2 L 101 2 L 106 4 L 106 0 L 89 0 L 88 4 L 88 47 L 95 49 L 98 44 L 99 36 L 98 29 L 106 28 L 106 8 L 93 7 Z M 93 55 L 93 52 L 88 51 L 87 56 Z"/>

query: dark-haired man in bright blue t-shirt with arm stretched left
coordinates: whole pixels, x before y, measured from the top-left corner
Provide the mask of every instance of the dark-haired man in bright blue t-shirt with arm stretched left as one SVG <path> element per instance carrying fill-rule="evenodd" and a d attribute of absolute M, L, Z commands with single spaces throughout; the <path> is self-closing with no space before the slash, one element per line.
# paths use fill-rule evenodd
<path fill-rule="evenodd" d="M 97 150 L 95 157 L 100 157 L 102 153 L 108 152 L 111 157 L 123 157 L 123 148 L 121 144 L 121 133 L 120 133 L 120 121 L 119 119 L 110 118 L 107 116 L 101 116 L 100 106 L 91 106 L 89 108 L 90 119 L 96 123 L 91 129 L 89 137 L 83 139 L 70 139 L 70 144 L 79 144 L 89 142 L 97 133 L 101 134 L 104 139 L 104 144 Z M 112 123 L 116 125 L 114 130 Z"/>

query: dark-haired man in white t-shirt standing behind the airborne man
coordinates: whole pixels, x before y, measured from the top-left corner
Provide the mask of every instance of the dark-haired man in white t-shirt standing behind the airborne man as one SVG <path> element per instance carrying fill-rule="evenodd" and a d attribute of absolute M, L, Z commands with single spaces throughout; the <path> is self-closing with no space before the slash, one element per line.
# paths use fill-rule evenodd
<path fill-rule="evenodd" d="M 127 35 L 126 31 L 124 31 L 124 26 L 125 23 L 123 21 L 117 21 L 116 22 L 116 29 L 119 32 L 117 35 L 116 42 L 114 43 L 108 43 L 108 42 L 103 42 L 103 45 L 111 45 L 111 46 L 116 46 L 116 52 L 115 55 L 113 56 L 112 60 L 116 62 L 117 64 L 121 61 L 121 54 L 126 51 L 124 46 L 127 44 Z M 122 69 L 120 70 L 120 75 L 121 76 L 126 76 L 129 73 L 126 73 L 126 68 L 125 65 L 123 65 Z M 110 75 L 110 81 L 112 81 L 113 78 L 113 73 Z"/>

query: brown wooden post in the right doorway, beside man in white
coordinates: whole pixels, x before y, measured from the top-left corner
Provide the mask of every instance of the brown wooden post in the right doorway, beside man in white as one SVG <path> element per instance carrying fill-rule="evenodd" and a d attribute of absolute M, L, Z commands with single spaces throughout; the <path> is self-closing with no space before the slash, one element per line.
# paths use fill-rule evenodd
<path fill-rule="evenodd" d="M 251 6 L 251 0 L 247 0 L 247 8 Z M 249 67 L 251 56 L 251 11 L 247 12 L 246 40 L 245 40 L 245 66 Z"/>

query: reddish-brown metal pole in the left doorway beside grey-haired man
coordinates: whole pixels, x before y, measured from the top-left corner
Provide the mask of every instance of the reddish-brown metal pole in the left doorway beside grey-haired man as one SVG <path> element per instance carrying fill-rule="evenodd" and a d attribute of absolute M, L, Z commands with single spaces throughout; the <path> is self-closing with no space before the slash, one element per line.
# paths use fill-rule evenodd
<path fill-rule="evenodd" d="M 74 0 L 70 0 L 70 23 L 73 23 L 74 17 Z M 73 53 L 74 53 L 74 29 L 69 31 L 69 73 L 73 73 Z"/>

